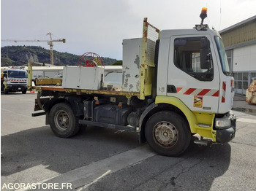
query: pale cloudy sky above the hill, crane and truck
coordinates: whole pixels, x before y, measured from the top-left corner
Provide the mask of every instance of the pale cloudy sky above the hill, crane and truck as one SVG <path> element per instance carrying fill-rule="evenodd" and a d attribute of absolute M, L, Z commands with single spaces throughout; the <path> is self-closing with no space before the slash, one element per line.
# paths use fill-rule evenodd
<path fill-rule="evenodd" d="M 143 18 L 162 29 L 192 28 L 200 11 L 217 31 L 256 15 L 256 0 L 1 0 L 1 39 L 48 40 L 53 50 L 122 59 L 122 40 L 142 37 Z M 41 46 L 47 42 L 1 42 Z"/>

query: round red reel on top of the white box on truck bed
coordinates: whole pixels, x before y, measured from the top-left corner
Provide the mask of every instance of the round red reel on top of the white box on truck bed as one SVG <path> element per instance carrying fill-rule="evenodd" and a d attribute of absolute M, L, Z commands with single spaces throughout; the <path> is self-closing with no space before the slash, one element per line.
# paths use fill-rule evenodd
<path fill-rule="evenodd" d="M 86 52 L 78 59 L 78 66 L 83 67 L 104 67 L 102 58 L 94 52 Z"/>

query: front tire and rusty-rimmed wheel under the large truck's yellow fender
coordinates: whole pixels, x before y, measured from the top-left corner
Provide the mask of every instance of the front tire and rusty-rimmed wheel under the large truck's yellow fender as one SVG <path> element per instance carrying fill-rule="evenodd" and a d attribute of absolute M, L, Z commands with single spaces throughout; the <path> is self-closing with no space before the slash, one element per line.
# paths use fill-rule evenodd
<path fill-rule="evenodd" d="M 159 155 L 176 157 L 189 146 L 191 133 L 187 121 L 175 112 L 152 115 L 145 128 L 146 141 Z"/>

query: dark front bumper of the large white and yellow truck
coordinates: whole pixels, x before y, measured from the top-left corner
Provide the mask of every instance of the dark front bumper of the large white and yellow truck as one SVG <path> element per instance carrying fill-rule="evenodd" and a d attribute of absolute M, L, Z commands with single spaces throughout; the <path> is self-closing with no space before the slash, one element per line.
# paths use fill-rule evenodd
<path fill-rule="evenodd" d="M 227 114 L 223 119 L 221 120 L 230 120 L 230 127 L 227 128 L 219 128 L 217 127 L 217 121 L 219 119 L 215 120 L 215 128 L 217 129 L 217 136 L 216 136 L 216 142 L 220 144 L 227 143 L 231 141 L 236 134 L 236 116 L 233 113 Z"/>

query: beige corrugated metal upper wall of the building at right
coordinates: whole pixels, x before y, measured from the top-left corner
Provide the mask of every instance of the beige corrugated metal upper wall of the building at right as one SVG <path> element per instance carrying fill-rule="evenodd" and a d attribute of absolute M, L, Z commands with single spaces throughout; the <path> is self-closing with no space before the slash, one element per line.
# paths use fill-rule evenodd
<path fill-rule="evenodd" d="M 242 26 L 233 28 L 230 31 L 221 34 L 225 47 L 230 47 L 243 42 L 249 42 L 256 39 L 256 20 L 245 23 Z"/>

